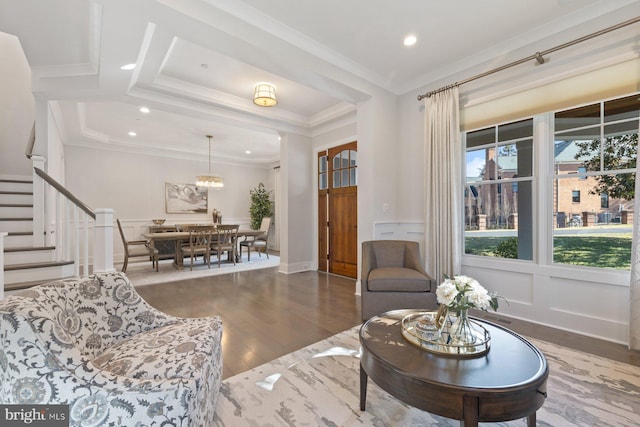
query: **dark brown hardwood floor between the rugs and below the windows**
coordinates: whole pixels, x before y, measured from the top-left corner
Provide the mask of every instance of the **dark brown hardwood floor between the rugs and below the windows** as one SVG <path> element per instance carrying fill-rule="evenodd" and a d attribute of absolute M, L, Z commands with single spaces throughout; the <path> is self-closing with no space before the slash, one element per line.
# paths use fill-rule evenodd
<path fill-rule="evenodd" d="M 360 321 L 355 280 L 318 272 L 252 270 L 136 288 L 175 316 L 218 315 L 224 323 L 223 378 L 328 338 Z M 640 352 L 496 313 L 480 317 L 522 335 L 640 366 Z"/>

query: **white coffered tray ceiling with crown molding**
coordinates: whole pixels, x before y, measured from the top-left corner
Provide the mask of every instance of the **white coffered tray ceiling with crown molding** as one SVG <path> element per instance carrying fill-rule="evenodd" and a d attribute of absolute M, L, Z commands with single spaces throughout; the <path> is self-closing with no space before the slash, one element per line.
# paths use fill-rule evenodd
<path fill-rule="evenodd" d="M 279 132 L 314 135 L 354 120 L 374 91 L 468 77 L 536 43 L 543 50 L 628 19 L 638 5 L 0 0 L 0 31 L 20 40 L 35 97 L 55 101 L 67 144 L 192 157 L 206 156 L 212 134 L 216 160 L 267 164 L 278 159 Z M 403 45 L 408 34 L 416 45 Z M 277 106 L 253 104 L 262 81 L 276 86 Z"/>

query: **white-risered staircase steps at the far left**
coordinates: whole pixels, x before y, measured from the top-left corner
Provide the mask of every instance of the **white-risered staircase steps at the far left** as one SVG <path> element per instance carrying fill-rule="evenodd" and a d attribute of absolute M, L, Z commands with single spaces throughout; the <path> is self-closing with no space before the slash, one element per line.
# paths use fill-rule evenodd
<path fill-rule="evenodd" d="M 0 230 L 4 243 L 4 290 L 24 289 L 73 277 L 73 261 L 56 260 L 53 246 L 33 246 L 33 181 L 0 179 Z"/>

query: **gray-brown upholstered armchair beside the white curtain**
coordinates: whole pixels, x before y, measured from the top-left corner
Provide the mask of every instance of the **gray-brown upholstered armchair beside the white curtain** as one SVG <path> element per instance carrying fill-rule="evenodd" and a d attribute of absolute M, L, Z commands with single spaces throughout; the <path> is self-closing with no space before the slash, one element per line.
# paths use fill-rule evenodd
<path fill-rule="evenodd" d="M 401 308 L 437 309 L 436 283 L 422 267 L 417 242 L 362 242 L 362 320 Z"/>

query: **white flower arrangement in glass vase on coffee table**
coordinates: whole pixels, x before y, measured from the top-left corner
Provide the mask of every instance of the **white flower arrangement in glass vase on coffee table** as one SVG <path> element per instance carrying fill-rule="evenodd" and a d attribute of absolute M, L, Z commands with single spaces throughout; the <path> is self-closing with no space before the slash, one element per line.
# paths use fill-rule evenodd
<path fill-rule="evenodd" d="M 498 311 L 500 298 L 496 293 L 489 293 L 476 279 L 467 276 L 453 276 L 453 279 L 445 277 L 436 289 L 436 296 L 438 303 L 455 311 L 458 316 L 461 311 L 470 308 Z"/>

